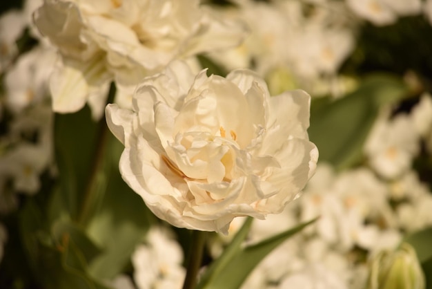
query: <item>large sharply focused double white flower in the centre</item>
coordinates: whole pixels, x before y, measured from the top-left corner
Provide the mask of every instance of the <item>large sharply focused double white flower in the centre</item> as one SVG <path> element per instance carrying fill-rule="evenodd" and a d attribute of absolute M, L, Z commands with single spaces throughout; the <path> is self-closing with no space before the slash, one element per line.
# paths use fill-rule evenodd
<path fill-rule="evenodd" d="M 309 95 L 270 97 L 252 71 L 195 77 L 173 62 L 139 85 L 132 104 L 106 109 L 125 145 L 121 174 L 177 227 L 226 233 L 236 216 L 282 212 L 315 171 Z"/>

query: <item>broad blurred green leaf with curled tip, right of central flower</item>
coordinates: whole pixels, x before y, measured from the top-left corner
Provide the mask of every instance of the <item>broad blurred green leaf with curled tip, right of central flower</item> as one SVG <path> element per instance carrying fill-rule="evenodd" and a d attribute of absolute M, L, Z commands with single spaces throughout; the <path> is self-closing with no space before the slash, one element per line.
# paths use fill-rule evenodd
<path fill-rule="evenodd" d="M 309 138 L 320 151 L 320 161 L 339 169 L 362 160 L 362 147 L 380 108 L 408 93 L 402 80 L 388 75 L 371 75 L 361 83 L 338 100 L 321 98 L 311 104 Z"/>

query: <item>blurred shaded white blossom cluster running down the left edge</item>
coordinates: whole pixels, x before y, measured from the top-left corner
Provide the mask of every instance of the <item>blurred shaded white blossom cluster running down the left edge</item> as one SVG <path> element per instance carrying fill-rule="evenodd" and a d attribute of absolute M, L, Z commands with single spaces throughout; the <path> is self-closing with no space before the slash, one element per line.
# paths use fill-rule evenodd
<path fill-rule="evenodd" d="M 23 10 L 0 17 L 0 216 L 16 211 L 20 196 L 41 189 L 41 174 L 54 173 L 48 82 L 57 55 L 32 24 L 32 12 L 41 3 L 25 1 Z M 20 53 L 17 41 L 22 37 L 39 43 Z M 2 247 L 7 232 L 0 229 Z"/>

